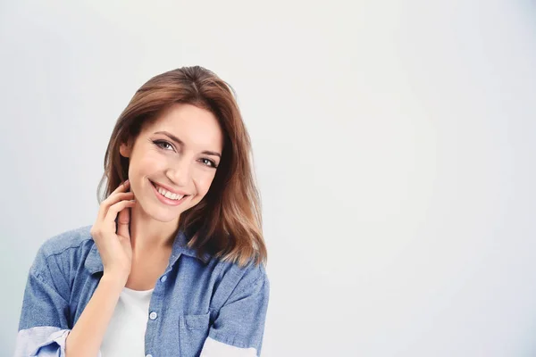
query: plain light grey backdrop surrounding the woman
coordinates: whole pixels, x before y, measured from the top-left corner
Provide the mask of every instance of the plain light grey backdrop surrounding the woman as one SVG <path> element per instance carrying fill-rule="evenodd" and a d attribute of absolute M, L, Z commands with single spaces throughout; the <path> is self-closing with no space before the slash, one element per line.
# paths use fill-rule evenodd
<path fill-rule="evenodd" d="M 0 4 L 1 355 L 120 112 L 193 64 L 253 140 L 263 356 L 536 355 L 536 5 L 324 3 Z"/>

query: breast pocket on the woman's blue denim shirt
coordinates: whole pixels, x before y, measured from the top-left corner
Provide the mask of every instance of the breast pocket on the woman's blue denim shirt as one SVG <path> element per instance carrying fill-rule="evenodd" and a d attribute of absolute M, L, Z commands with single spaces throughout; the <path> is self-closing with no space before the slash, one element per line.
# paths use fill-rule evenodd
<path fill-rule="evenodd" d="M 210 312 L 179 317 L 180 357 L 197 357 L 210 328 Z"/>

